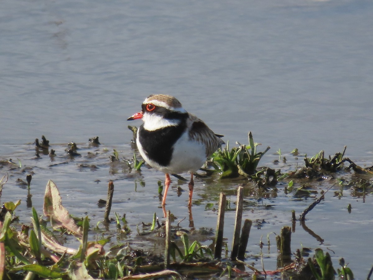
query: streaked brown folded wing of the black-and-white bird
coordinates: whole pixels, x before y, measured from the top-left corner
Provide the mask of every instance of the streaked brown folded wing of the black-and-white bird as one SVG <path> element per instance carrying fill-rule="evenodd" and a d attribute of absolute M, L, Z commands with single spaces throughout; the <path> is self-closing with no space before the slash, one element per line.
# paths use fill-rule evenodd
<path fill-rule="evenodd" d="M 217 149 L 219 149 L 222 144 L 225 144 L 220 137 L 216 136 L 215 133 L 200 119 L 194 115 L 189 115 L 190 127 L 189 138 L 197 142 L 203 143 L 206 146 L 206 156 L 209 157 Z"/>

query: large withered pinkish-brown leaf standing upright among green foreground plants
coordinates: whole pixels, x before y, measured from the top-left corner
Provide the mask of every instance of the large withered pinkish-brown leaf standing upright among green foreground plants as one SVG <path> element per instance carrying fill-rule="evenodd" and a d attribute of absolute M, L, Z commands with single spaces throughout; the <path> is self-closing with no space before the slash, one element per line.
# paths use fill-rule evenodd
<path fill-rule="evenodd" d="M 62 206 L 60 193 L 51 180 L 47 183 L 44 195 L 44 215 L 51 218 L 53 229 L 64 227 L 76 237 L 83 237 L 81 228 L 75 224 L 69 212 Z"/>

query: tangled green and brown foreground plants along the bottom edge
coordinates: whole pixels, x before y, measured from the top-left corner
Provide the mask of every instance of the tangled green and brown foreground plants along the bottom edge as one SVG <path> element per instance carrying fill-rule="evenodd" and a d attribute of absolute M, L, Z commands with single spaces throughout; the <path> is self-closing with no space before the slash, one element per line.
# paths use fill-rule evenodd
<path fill-rule="evenodd" d="M 238 193 L 238 201 L 243 198 L 243 188 L 241 187 L 239 190 L 241 191 Z M 208 246 L 201 245 L 197 240 L 190 244 L 187 231 L 176 230 L 176 236 L 179 236 L 182 248 L 176 245 L 176 240 L 170 241 L 167 255 L 169 254 L 172 257 L 173 263 L 168 263 L 167 269 L 163 269 L 162 258 L 156 258 L 151 254 L 147 255 L 138 250 L 132 251 L 128 246 L 119 250 L 116 254 L 109 255 L 103 247 L 107 243 L 107 239 L 90 242 L 88 217 L 86 216 L 82 220 L 80 227 L 76 225 L 73 218 L 70 217 L 68 211 L 62 205 L 57 186 L 52 181 L 48 181 L 46 186 L 44 215 L 49 218 L 50 226 L 53 230 L 63 229 L 61 231 L 63 234 L 75 236 L 80 241 L 79 248 L 68 248 L 60 243 L 53 231 L 48 229 L 48 221 L 41 220 L 35 208 L 32 208 L 32 227 L 24 225 L 21 230 L 17 230 L 12 226 L 12 215 L 14 215 L 14 210 L 19 205 L 19 202 L 13 203 L 13 205 L 8 203 L 8 205 L 9 210 L 3 215 L 3 222 L 0 224 L 0 274 L 2 273 L 1 276 L 6 275 L 10 279 L 18 279 L 18 276 L 28 279 L 28 277 L 35 275 L 41 279 L 118 279 L 119 277 L 125 279 L 126 275 L 138 273 L 144 273 L 144 278 L 171 275 L 181 277 L 181 274 L 193 273 L 193 271 L 199 275 L 218 274 L 220 277 L 225 274 L 228 274 L 229 277 L 249 275 L 257 275 L 259 277 L 262 274 L 261 271 L 244 261 L 245 247 L 249 238 L 248 233 L 252 224 L 250 220 L 245 220 L 242 228 L 242 236 L 239 239 L 239 243 L 237 243 L 239 245 L 236 252 L 238 255 L 232 255 L 231 260 L 223 262 L 219 261 L 221 256 L 214 260 L 214 252 Z M 219 212 L 222 212 L 226 204 L 220 202 L 219 206 Z M 237 204 L 237 211 L 242 212 L 242 203 L 240 202 Z M 242 216 L 242 214 L 240 215 Z M 238 214 L 236 219 L 240 219 L 240 215 Z M 170 216 L 169 213 L 168 217 Z M 117 228 L 121 232 L 125 228 L 129 230 L 125 216 L 123 216 L 121 221 L 117 213 L 115 213 L 115 217 Z M 164 229 L 162 225 L 159 225 L 154 213 L 150 232 L 154 230 L 156 222 L 159 230 Z M 123 229 L 121 223 L 124 224 Z M 166 221 L 166 227 L 167 223 L 169 226 L 170 220 Z M 241 222 L 236 222 L 236 224 L 238 224 L 237 230 L 239 232 Z M 168 236 L 170 237 L 169 234 Z M 330 261 L 330 255 L 326 253 L 324 256 L 321 249 L 315 250 L 316 262 L 311 258 L 308 259 L 308 262 L 305 262 L 300 253 L 297 253 L 295 262 L 293 262 L 290 236 L 291 229 L 289 227 L 283 227 L 281 234 L 276 236 L 279 256 L 284 262 L 284 266 L 276 271 L 265 271 L 267 275 L 286 272 L 292 279 L 302 279 L 301 276 L 297 278 L 297 275 L 302 275 L 302 271 L 308 265 L 316 279 L 334 279 L 332 277 L 334 277 L 335 270 Z M 216 239 L 218 239 L 218 236 L 216 236 Z M 223 246 L 222 243 L 219 244 L 219 246 Z M 297 252 L 300 251 L 297 250 Z M 179 259 L 181 262 L 178 261 Z M 151 265 L 149 265 L 149 262 Z M 237 264 L 245 265 L 252 273 L 233 268 Z M 340 264 L 341 268 L 338 269 L 339 276 L 344 277 L 344 279 L 353 279 L 352 271 L 344 264 L 344 261 L 341 261 Z M 0 278 L 3 279 L 4 277 Z"/>

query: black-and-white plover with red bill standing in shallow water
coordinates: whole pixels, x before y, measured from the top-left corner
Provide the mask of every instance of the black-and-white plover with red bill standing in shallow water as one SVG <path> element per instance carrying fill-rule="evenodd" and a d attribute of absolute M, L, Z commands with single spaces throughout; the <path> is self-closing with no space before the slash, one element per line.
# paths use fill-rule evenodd
<path fill-rule="evenodd" d="M 151 167 L 164 172 L 164 195 L 166 204 L 171 179 L 169 174 L 190 172 L 188 184 L 191 206 L 194 188 L 193 174 L 222 144 L 219 134 L 196 116 L 188 113 L 178 99 L 166 94 L 152 94 L 141 105 L 142 110 L 128 121 L 142 119 L 137 130 L 136 144 L 142 158 Z"/>

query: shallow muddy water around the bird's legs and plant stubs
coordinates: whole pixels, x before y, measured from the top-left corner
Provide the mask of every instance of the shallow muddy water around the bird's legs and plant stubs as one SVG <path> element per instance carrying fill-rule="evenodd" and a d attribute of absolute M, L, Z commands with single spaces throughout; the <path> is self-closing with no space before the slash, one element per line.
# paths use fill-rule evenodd
<path fill-rule="evenodd" d="M 129 139 L 130 140 L 130 139 Z M 119 215 L 126 215 L 128 227 L 131 233 L 127 235 L 119 234 L 115 223 L 105 229 L 103 224 L 99 224 L 100 231 L 91 231 L 91 239 L 111 237 L 111 241 L 106 248 L 118 243 L 129 245 L 133 248 L 141 248 L 156 254 L 163 255 L 163 238 L 156 234 L 147 234 L 138 236 L 143 231 L 142 223 L 151 223 L 153 213 L 163 219 L 163 211 L 160 208 L 160 200 L 157 195 L 157 181 L 163 180 L 163 174 L 148 169 L 143 166 L 140 172 L 130 170 L 125 163 L 112 163 L 109 156 L 112 155 L 115 148 L 119 152 L 121 159 L 131 159 L 133 150 L 130 141 L 122 146 L 100 145 L 92 147 L 88 143 L 78 143 L 78 152 L 81 156 L 70 157 L 67 155 L 66 145 L 52 144 L 51 147 L 56 150 L 56 155 L 50 158 L 49 155 L 40 154 L 40 158 L 35 156 L 34 144 L 29 143 L 22 146 L 2 145 L 9 153 L 5 158 L 12 157 L 13 162 L 20 159 L 22 168 L 15 168 L 10 164 L 2 162 L 0 166 L 1 173 L 9 173 L 9 181 L 4 185 L 1 202 L 22 200 L 16 210 L 20 216 L 21 223 L 29 223 L 31 215 L 31 204 L 37 209 L 38 214 L 42 213 L 43 196 L 46 183 L 52 179 L 59 188 L 62 196 L 63 205 L 69 210 L 70 214 L 76 217 L 90 218 L 91 228 L 103 220 L 104 208 L 97 205 L 99 199 L 106 199 L 107 183 L 114 181 L 115 192 L 113 197 L 112 212 L 110 217 L 114 218 L 114 212 Z M 278 159 L 278 156 L 268 156 L 271 162 L 261 162 L 272 168 L 280 168 L 282 172 L 288 172 L 295 167 L 303 166 L 302 157 L 295 158 L 290 154 L 285 155 L 288 158 L 286 164 L 280 163 L 274 165 L 272 161 Z M 267 158 L 267 159 L 268 159 Z M 364 163 L 360 163 L 364 165 Z M 17 178 L 25 181 L 26 174 L 32 174 L 31 200 L 27 200 L 28 190 L 24 185 L 16 183 Z M 201 173 L 203 174 L 203 172 Z M 183 174 L 185 177 L 188 174 Z M 303 247 L 322 248 L 328 251 L 332 256 L 333 264 L 338 267 L 339 258 L 344 257 L 349 267 L 357 279 L 366 277 L 370 269 L 370 260 L 366 258 L 372 251 L 370 242 L 370 233 L 372 225 L 372 197 L 352 196 L 350 187 L 342 188 L 336 184 L 334 177 L 342 177 L 352 180 L 354 174 L 333 174 L 328 175 L 322 181 L 296 181 L 294 186 L 301 186 L 306 183 L 313 187 L 317 192 L 311 197 L 299 198 L 292 193 L 286 194 L 284 188 L 286 181 L 277 185 L 277 191 L 268 192 L 265 198 L 255 195 L 252 192 L 250 183 L 245 180 L 217 180 L 212 178 L 196 178 L 192 205 L 192 223 L 187 207 L 188 187 L 183 181 L 174 178 L 167 196 L 166 210 L 170 210 L 176 217 L 173 226 L 180 222 L 180 226 L 186 230 L 206 228 L 216 229 L 217 211 L 206 209 L 208 203 L 214 203 L 217 209 L 220 192 L 225 192 L 229 201 L 229 208 L 225 215 L 224 237 L 227 239 L 228 249 L 232 247 L 233 226 L 235 220 L 235 202 L 236 190 L 238 186 L 244 186 L 244 215 L 243 219 L 253 220 L 253 227 L 250 232 L 250 239 L 247 247 L 247 262 L 254 264 L 261 270 L 261 258 L 263 258 L 264 268 L 266 270 L 275 270 L 277 264 L 277 251 L 275 234 L 279 234 L 280 229 L 285 226 L 291 226 L 291 211 L 295 210 L 296 215 L 300 215 L 315 197 L 320 197 L 320 191 L 326 190 L 334 184 L 331 190 L 326 193 L 325 200 L 317 205 L 306 216 L 306 226 L 314 232 L 310 235 L 302 226 L 297 223 L 295 232 L 292 233 L 292 251 Z M 142 184 L 145 183 L 145 184 Z M 181 187 L 181 195 L 178 195 L 177 186 Z M 343 196 L 338 199 L 334 192 L 343 190 Z M 31 201 L 31 203 L 30 203 Z M 352 205 L 352 212 L 349 214 L 347 205 Z M 320 242 L 315 236 L 320 236 L 324 241 Z M 268 247 L 267 236 L 269 236 L 271 246 Z M 190 239 L 198 239 L 205 245 L 211 245 L 214 233 L 207 236 L 194 234 Z M 264 248 L 260 249 L 260 242 L 263 241 Z M 78 246 L 74 242 L 69 246 Z M 230 252 L 228 252 L 230 255 Z M 223 256 L 225 251 L 223 250 Z M 274 277 L 273 279 L 276 279 Z"/>

